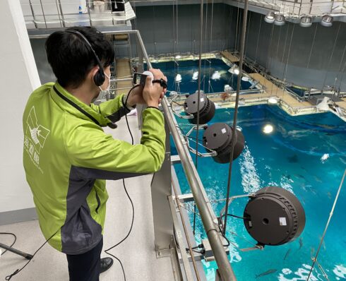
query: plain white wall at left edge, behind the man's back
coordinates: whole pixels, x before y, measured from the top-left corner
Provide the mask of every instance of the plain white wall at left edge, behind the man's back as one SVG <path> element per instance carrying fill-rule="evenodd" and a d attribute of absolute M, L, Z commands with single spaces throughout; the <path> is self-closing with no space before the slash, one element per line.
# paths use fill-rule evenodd
<path fill-rule="evenodd" d="M 0 213 L 34 207 L 23 169 L 22 115 L 40 86 L 19 0 L 0 1 Z"/>

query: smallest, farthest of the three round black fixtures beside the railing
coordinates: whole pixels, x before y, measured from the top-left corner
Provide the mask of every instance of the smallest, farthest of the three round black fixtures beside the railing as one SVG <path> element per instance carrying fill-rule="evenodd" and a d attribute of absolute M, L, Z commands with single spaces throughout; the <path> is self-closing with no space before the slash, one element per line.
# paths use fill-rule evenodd
<path fill-rule="evenodd" d="M 199 112 L 199 124 L 206 124 L 215 115 L 215 104 L 208 99 L 205 95 L 200 95 L 199 109 L 198 105 L 198 94 L 189 95 L 184 103 L 184 110 L 188 114 L 193 115 L 193 119 L 189 119 L 192 124 L 197 124 L 197 113 Z"/>

